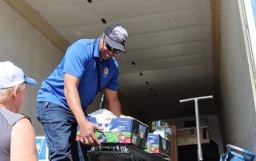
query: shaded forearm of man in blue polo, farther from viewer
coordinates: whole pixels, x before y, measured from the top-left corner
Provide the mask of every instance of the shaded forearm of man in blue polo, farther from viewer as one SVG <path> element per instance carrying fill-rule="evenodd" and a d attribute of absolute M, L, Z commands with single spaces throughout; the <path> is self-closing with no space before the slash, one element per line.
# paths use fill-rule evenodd
<path fill-rule="evenodd" d="M 103 92 L 105 93 L 106 106 L 110 112 L 113 112 L 115 116 L 121 116 L 121 104 L 118 100 L 118 92 L 104 88 Z"/>

